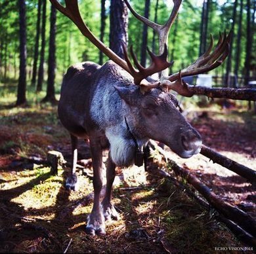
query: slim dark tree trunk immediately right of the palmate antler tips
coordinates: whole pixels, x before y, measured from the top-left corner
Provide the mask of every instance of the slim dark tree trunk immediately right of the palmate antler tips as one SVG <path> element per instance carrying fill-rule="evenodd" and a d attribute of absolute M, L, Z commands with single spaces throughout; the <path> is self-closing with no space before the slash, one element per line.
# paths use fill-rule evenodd
<path fill-rule="evenodd" d="M 243 19 L 243 0 L 240 0 L 240 12 L 239 12 L 239 23 L 238 23 L 238 35 L 236 40 L 236 64 L 234 68 L 234 84 L 233 86 L 236 87 L 238 82 L 238 69 L 240 65 L 240 51 L 241 51 L 241 35 L 242 35 L 242 19 Z M 237 82 L 236 82 L 237 79 Z"/>

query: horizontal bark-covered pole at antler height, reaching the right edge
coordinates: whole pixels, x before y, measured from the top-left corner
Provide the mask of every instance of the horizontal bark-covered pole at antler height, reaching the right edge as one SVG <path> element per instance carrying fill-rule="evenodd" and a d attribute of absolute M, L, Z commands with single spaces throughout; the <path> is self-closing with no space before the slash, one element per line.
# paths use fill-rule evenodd
<path fill-rule="evenodd" d="M 188 86 L 192 94 L 205 95 L 209 98 L 227 98 L 232 100 L 256 101 L 256 89 L 249 88 L 209 88 L 204 86 Z"/>

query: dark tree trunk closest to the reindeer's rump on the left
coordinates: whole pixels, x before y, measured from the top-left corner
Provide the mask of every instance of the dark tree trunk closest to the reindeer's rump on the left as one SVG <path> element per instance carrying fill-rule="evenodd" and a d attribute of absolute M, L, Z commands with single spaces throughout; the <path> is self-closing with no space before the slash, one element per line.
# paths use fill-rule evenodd
<path fill-rule="evenodd" d="M 50 39 L 49 39 L 49 59 L 48 59 L 48 79 L 47 79 L 47 94 L 43 99 L 43 102 L 50 101 L 56 103 L 55 90 L 54 90 L 54 79 L 55 79 L 55 68 L 56 68 L 56 9 L 51 5 L 51 27 L 50 27 Z"/>

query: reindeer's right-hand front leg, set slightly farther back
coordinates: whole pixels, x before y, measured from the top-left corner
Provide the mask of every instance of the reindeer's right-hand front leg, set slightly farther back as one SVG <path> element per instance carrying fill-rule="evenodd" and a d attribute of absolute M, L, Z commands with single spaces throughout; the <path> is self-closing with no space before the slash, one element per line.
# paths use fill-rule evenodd
<path fill-rule="evenodd" d="M 119 214 L 111 203 L 112 185 L 116 176 L 116 164 L 112 161 L 110 153 L 108 154 L 108 165 L 106 168 L 106 194 L 102 200 L 102 209 L 105 221 L 108 219 L 119 219 Z"/>

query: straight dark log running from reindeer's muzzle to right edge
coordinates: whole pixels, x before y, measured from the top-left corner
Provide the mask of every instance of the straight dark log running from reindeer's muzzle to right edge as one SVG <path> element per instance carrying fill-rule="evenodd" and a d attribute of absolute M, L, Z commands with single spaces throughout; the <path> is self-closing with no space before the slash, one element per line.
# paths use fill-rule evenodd
<path fill-rule="evenodd" d="M 242 177 L 247 179 L 250 183 L 253 183 L 253 184 L 256 183 L 255 170 L 252 170 L 251 168 L 247 168 L 246 166 L 239 164 L 234 160 L 230 160 L 230 158 L 227 158 L 222 154 L 217 153 L 216 151 L 213 151 L 213 149 L 206 147 L 205 145 L 202 145 L 202 149 L 200 153 L 203 154 L 203 156 L 210 158 L 214 163 L 220 164 L 221 166 L 227 168 L 228 170 L 232 170 L 232 172 L 235 172 L 238 175 L 241 175 Z"/>

